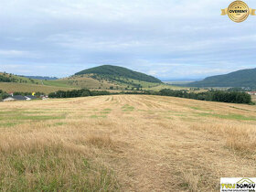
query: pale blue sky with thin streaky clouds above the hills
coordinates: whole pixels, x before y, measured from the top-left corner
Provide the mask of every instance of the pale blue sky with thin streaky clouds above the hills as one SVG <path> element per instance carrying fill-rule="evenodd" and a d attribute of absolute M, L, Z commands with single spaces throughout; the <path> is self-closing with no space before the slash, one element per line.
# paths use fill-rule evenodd
<path fill-rule="evenodd" d="M 61 78 L 107 64 L 181 80 L 256 68 L 256 16 L 220 16 L 231 2 L 1 0 L 0 71 Z"/>

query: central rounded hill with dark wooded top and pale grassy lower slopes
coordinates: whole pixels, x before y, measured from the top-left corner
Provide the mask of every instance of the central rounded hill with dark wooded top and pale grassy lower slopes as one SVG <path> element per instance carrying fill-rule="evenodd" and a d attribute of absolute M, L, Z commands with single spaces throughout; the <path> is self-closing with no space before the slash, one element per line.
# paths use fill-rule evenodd
<path fill-rule="evenodd" d="M 94 90 L 159 91 L 161 89 L 180 89 L 144 73 L 111 65 L 85 69 L 69 78 L 48 80 L 44 83 Z"/>

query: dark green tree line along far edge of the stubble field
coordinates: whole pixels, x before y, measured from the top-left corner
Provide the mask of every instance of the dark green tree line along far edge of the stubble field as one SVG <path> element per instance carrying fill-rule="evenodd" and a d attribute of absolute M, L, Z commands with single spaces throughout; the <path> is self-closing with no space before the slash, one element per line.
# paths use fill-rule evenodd
<path fill-rule="evenodd" d="M 146 94 L 146 95 L 161 95 L 172 96 L 179 98 L 187 98 L 201 101 L 219 101 L 230 103 L 246 103 L 252 104 L 251 95 L 239 91 L 205 91 L 205 92 L 191 92 L 191 91 L 173 91 L 169 89 L 161 91 L 122 91 L 111 93 L 110 91 L 90 91 L 90 90 L 73 90 L 73 91 L 57 91 L 48 94 L 49 98 L 75 98 L 88 97 L 98 95 L 111 94 Z"/>

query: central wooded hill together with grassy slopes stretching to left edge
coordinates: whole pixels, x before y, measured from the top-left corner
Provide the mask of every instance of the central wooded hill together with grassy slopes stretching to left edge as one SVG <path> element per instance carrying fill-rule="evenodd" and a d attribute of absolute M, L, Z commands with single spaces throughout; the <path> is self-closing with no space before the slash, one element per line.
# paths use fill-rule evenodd
<path fill-rule="evenodd" d="M 85 69 L 73 76 L 59 80 L 39 80 L 0 73 L 0 90 L 3 91 L 68 91 L 74 89 L 108 91 L 160 91 L 162 89 L 180 90 L 184 88 L 167 85 L 153 76 L 117 66 L 103 65 Z M 37 79 L 31 79 L 35 77 Z M 9 83 L 9 84 L 8 84 Z"/>

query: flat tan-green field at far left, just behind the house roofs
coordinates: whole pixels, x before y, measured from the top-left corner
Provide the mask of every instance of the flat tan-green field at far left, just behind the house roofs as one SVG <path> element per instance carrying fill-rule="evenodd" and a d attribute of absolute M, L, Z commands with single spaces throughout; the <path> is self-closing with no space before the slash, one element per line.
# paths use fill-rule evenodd
<path fill-rule="evenodd" d="M 16 82 L 0 82 L 0 90 L 6 92 L 44 92 L 46 94 L 55 91 L 69 91 L 74 90 L 74 88 L 67 87 L 57 87 L 57 86 L 46 86 L 42 84 L 28 84 L 28 83 L 16 83 Z"/>

